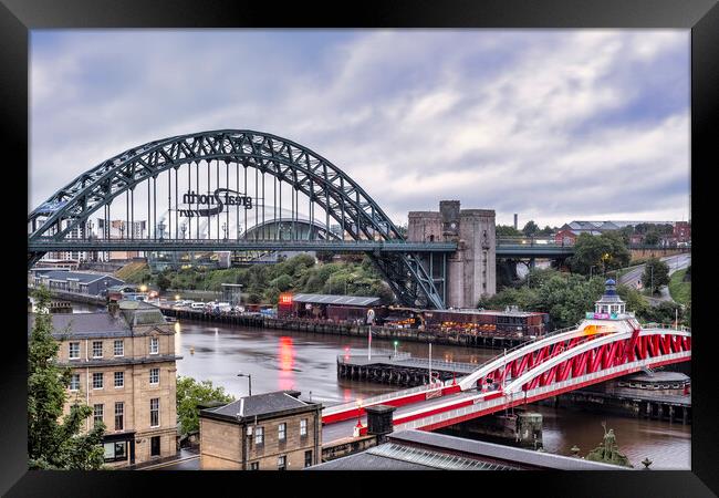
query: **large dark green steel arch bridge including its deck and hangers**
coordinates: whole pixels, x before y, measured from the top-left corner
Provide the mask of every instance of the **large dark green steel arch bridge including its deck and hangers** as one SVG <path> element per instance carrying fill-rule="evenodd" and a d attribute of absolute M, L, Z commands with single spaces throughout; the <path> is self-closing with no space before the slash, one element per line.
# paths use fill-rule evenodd
<path fill-rule="evenodd" d="M 248 169 L 254 173 L 249 181 Z M 146 184 L 146 191 L 142 184 Z M 180 194 L 179 184 L 185 194 Z M 267 224 L 265 210 L 270 207 L 275 214 L 279 207 L 279 221 L 283 221 L 283 191 L 285 206 L 289 194 L 293 219 L 299 215 L 302 194 L 310 224 L 322 217 L 325 227 L 331 220 L 337 224 L 342 240 L 321 249 L 364 251 L 399 301 L 445 308 L 445 268 L 436 277 L 420 260 L 427 253 L 433 258 L 446 256 L 456 245 L 406 242 L 377 203 L 342 169 L 286 138 L 247 129 L 200 132 L 149 142 L 77 176 L 28 216 L 28 268 L 46 252 L 58 250 L 291 249 L 292 241 L 259 238 L 261 230 L 254 230 L 253 240 L 246 236 L 250 210 L 256 227 Z M 101 210 L 95 234 L 91 216 Z M 136 228 L 136 214 L 147 220 L 146 231 Z M 215 237 L 211 222 L 206 222 L 200 234 L 200 219 L 212 216 Z M 119 237 L 112 234 L 113 218 L 122 221 Z M 311 243 L 300 247 L 305 246 L 312 249 Z"/>

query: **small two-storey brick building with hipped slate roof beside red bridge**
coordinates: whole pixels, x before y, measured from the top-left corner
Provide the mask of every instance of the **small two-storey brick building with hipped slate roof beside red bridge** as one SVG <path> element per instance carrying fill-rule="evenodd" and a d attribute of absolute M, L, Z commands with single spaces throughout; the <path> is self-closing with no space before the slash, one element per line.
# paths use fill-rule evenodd
<path fill-rule="evenodd" d="M 299 391 L 200 411 L 202 470 L 299 470 L 322 458 L 322 404 Z"/>

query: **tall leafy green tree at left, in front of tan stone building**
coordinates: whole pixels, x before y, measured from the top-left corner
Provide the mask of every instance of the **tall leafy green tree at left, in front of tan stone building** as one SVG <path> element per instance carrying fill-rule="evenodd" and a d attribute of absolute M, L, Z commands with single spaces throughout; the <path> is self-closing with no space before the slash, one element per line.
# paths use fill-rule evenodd
<path fill-rule="evenodd" d="M 35 321 L 28 345 L 28 455 L 31 469 L 100 469 L 105 425 L 80 434 L 92 408 L 75 401 L 63 416 L 71 369 L 56 363 L 60 343 L 52 336 L 50 292 L 40 287 L 33 297 Z M 60 422 L 62 417 L 62 422 Z"/>

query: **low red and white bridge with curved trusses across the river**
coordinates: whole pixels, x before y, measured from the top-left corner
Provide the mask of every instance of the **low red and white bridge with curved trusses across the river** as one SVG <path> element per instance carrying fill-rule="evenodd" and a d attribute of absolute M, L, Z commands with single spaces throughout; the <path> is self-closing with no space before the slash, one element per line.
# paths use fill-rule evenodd
<path fill-rule="evenodd" d="M 361 405 L 329 406 L 322 413 L 323 439 L 350 436 L 367 406 L 396 406 L 393 424 L 397 430 L 434 430 L 647 367 L 691 360 L 689 330 L 627 323 L 585 322 L 500 354 L 456 382 L 388 393 Z"/>

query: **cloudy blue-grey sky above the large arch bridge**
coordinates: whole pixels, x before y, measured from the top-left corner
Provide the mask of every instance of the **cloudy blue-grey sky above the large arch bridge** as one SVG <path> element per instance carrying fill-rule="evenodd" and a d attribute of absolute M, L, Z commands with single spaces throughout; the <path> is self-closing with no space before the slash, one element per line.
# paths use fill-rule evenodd
<path fill-rule="evenodd" d="M 31 33 L 29 210 L 104 159 L 209 129 L 300 143 L 398 224 L 689 217 L 688 30 Z"/>

